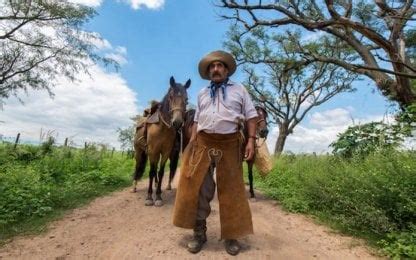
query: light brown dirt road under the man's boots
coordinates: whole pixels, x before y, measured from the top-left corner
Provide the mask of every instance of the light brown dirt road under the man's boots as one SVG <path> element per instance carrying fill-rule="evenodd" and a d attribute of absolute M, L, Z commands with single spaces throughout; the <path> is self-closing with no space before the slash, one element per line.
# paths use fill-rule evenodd
<path fill-rule="evenodd" d="M 175 189 L 164 191 L 161 208 L 144 206 L 146 183 L 98 198 L 52 223 L 39 236 L 16 238 L 0 248 L 0 259 L 232 259 L 219 241 L 218 203 L 208 218 L 203 251 L 186 251 L 191 231 L 174 227 Z M 243 240 L 241 259 L 372 259 L 361 242 L 333 233 L 297 214 L 284 212 L 258 194 L 250 202 L 255 234 Z"/>

